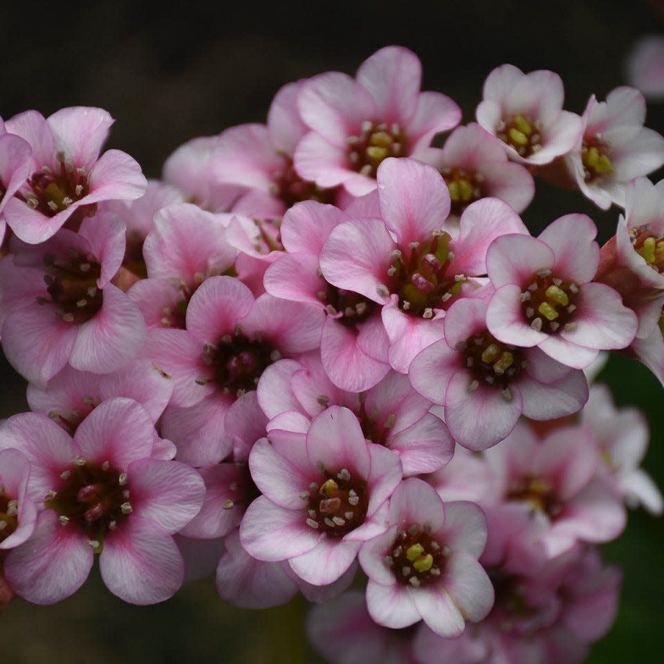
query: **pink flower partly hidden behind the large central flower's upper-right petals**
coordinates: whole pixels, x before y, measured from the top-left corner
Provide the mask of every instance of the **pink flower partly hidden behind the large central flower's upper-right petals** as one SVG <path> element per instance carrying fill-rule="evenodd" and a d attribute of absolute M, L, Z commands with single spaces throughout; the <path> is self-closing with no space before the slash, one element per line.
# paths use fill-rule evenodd
<path fill-rule="evenodd" d="M 520 164 L 508 161 L 503 147 L 479 124 L 454 129 L 443 149 L 431 147 L 418 159 L 441 172 L 450 190 L 452 207 L 445 230 L 456 234 L 459 217 L 470 203 L 491 196 L 523 212 L 535 195 L 533 176 Z"/>

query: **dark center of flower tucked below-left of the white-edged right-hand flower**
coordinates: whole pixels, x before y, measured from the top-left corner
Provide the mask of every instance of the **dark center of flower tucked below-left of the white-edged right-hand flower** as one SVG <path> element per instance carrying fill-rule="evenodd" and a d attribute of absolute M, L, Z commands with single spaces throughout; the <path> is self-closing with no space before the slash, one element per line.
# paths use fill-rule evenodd
<path fill-rule="evenodd" d="M 472 374 L 471 391 L 480 383 L 488 383 L 499 387 L 505 398 L 511 398 L 509 385 L 518 380 L 526 363 L 522 349 L 504 344 L 483 330 L 459 342 L 457 351 L 465 357 L 465 366 Z"/>

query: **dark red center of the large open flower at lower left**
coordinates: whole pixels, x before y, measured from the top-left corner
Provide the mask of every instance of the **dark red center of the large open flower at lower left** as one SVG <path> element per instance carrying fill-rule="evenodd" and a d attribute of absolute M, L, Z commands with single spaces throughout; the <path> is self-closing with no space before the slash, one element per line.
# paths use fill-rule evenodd
<path fill-rule="evenodd" d="M 94 465 L 79 457 L 60 479 L 61 488 L 48 493 L 44 506 L 55 510 L 63 526 L 73 522 L 82 528 L 100 553 L 105 535 L 132 512 L 127 473 L 111 468 L 108 461 Z"/>

